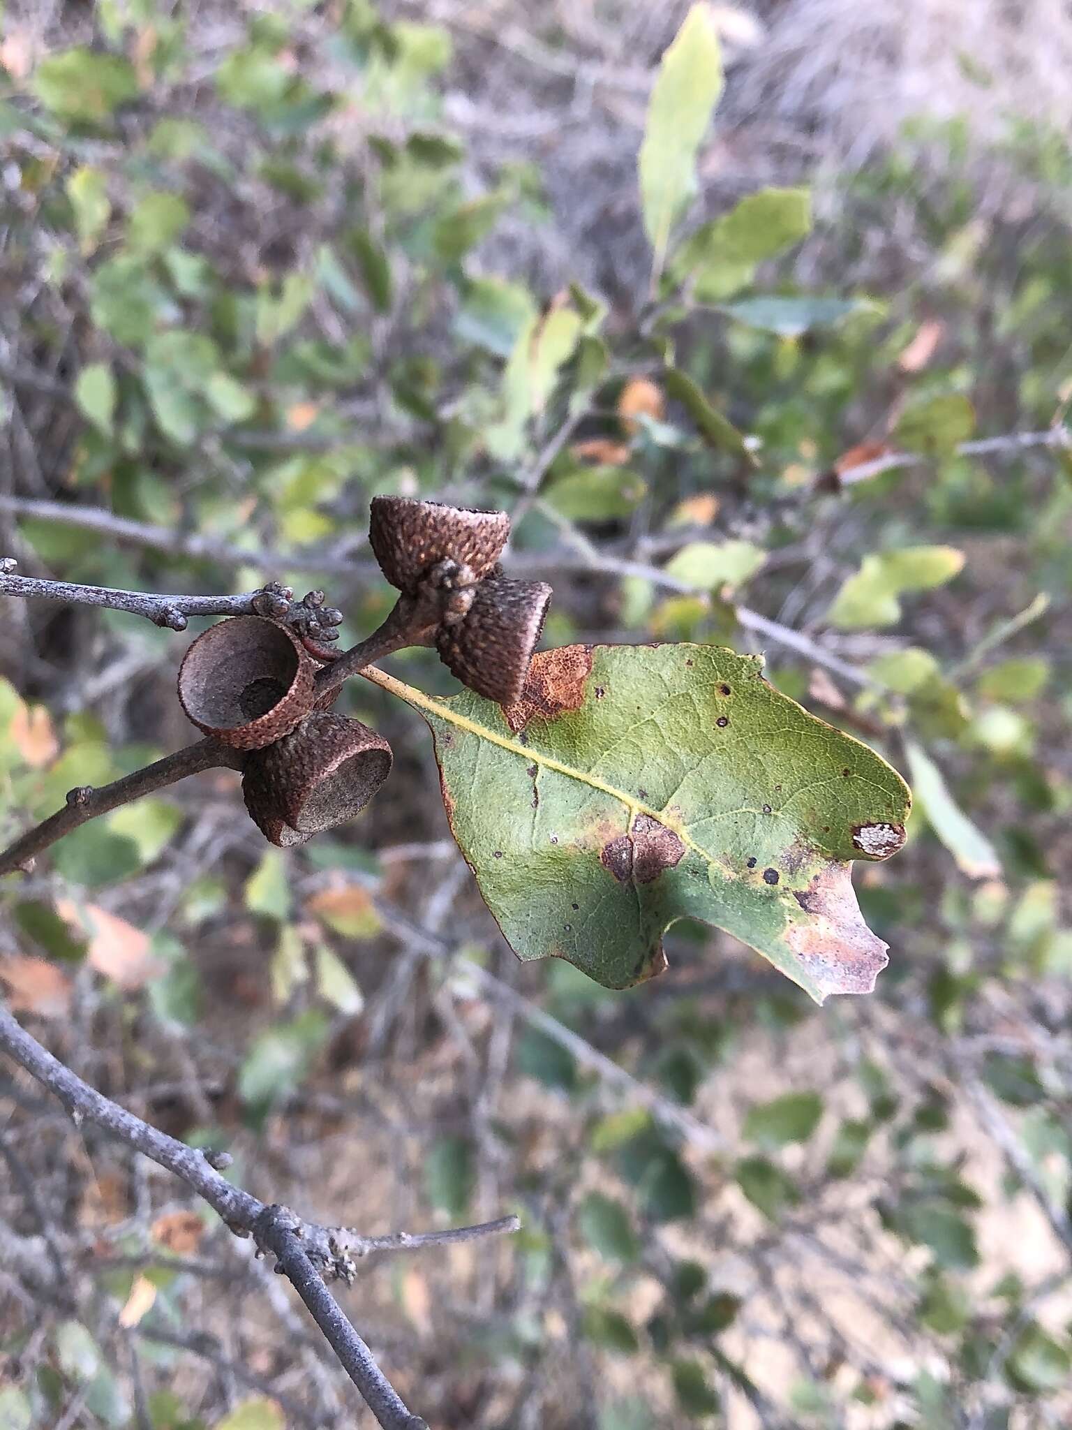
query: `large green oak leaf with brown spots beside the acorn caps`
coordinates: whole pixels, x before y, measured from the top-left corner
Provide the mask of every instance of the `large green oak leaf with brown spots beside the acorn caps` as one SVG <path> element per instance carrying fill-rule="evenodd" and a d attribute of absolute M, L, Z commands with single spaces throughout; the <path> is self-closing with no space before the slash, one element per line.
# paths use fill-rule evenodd
<path fill-rule="evenodd" d="M 859 741 L 776 691 L 762 656 L 572 645 L 499 706 L 369 668 L 435 736 L 450 827 L 506 940 L 607 988 L 666 967 L 699 918 L 816 1000 L 870 992 L 886 944 L 850 861 L 900 848 L 910 794 Z"/>

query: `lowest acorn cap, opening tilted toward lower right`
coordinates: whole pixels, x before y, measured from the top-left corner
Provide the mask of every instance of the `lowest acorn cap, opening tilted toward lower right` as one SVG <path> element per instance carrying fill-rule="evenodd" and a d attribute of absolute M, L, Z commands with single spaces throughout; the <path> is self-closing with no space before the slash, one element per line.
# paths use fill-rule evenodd
<path fill-rule="evenodd" d="M 242 794 L 273 844 L 304 844 L 360 814 L 392 759 L 387 741 L 359 719 L 313 711 L 290 735 L 249 756 Z"/>

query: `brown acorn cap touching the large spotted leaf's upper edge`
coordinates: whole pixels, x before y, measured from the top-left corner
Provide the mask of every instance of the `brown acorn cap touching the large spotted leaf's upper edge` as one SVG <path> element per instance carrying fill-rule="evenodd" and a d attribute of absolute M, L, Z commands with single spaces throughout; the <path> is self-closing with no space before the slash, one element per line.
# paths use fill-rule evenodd
<path fill-rule="evenodd" d="M 552 589 L 543 581 L 487 576 L 469 613 L 436 636 L 439 658 L 463 685 L 500 705 L 520 698 Z"/>

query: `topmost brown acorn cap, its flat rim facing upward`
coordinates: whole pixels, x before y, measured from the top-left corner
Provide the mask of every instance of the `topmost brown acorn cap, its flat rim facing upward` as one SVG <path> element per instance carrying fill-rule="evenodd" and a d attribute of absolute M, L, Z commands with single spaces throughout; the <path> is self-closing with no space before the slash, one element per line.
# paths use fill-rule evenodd
<path fill-rule="evenodd" d="M 477 512 L 413 496 L 373 496 L 369 541 L 380 571 L 399 591 L 413 591 L 440 561 L 469 566 L 479 581 L 503 553 L 506 512 Z"/>

